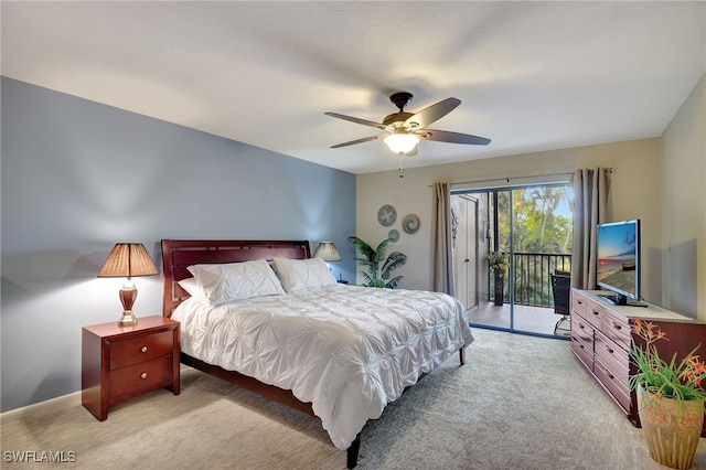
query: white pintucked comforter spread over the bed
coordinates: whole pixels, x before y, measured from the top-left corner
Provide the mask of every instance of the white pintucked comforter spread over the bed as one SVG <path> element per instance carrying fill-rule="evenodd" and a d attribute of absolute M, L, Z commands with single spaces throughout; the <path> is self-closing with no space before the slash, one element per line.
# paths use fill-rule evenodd
<path fill-rule="evenodd" d="M 172 318 L 184 353 L 311 402 L 342 450 L 405 387 L 473 341 L 457 299 L 419 290 L 336 285 L 221 307 L 190 298 Z"/>

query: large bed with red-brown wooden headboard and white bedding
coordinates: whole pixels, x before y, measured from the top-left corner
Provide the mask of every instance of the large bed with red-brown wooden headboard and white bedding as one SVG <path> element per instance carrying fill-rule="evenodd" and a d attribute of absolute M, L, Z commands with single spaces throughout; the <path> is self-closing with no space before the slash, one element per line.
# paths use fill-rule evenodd
<path fill-rule="evenodd" d="M 181 362 L 318 416 L 347 468 L 365 421 L 473 341 L 454 298 L 338 284 L 307 241 L 161 245 Z"/>

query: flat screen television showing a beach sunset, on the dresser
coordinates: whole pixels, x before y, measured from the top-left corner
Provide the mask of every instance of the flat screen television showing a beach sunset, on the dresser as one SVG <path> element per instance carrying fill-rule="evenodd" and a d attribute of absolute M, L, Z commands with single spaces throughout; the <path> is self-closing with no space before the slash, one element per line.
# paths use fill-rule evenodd
<path fill-rule="evenodd" d="M 640 300 L 640 220 L 598 225 L 598 286 L 614 305 Z"/>

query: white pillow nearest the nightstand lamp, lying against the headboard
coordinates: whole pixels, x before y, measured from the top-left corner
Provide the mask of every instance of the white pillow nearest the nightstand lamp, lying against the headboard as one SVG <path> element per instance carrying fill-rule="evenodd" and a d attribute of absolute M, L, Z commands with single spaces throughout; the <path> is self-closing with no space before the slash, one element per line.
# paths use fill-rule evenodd
<path fill-rule="evenodd" d="M 282 285 L 265 259 L 222 265 L 189 266 L 208 301 L 214 305 L 253 297 L 285 293 Z"/>

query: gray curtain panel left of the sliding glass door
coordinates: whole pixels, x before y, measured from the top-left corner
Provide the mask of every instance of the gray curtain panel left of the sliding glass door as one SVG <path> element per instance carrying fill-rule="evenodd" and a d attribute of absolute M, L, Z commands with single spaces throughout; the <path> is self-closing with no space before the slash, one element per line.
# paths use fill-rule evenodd
<path fill-rule="evenodd" d="M 431 212 L 431 286 L 437 292 L 454 295 L 453 241 L 451 237 L 451 191 L 449 183 L 434 183 Z"/>

